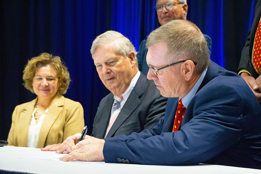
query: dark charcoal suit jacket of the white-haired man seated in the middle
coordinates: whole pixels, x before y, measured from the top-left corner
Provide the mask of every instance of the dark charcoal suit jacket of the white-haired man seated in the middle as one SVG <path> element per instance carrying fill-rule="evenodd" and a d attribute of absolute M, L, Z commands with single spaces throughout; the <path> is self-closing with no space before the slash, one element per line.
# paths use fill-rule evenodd
<path fill-rule="evenodd" d="M 105 96 L 97 109 L 93 123 L 92 136 L 104 138 L 113 105 L 113 94 Z M 130 135 L 144 129 L 153 128 L 164 116 L 167 98 L 160 95 L 153 80 L 148 80 L 142 73 L 113 123 L 106 137 Z"/>

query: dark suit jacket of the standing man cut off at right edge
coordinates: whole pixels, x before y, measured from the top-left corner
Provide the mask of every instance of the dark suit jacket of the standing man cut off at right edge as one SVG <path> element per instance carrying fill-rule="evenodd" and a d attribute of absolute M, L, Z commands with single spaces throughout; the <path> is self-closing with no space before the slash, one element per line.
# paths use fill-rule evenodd
<path fill-rule="evenodd" d="M 259 74 L 255 71 L 251 59 L 252 59 L 253 44 L 255 40 L 255 32 L 258 27 L 260 16 L 261 16 L 261 1 L 258 0 L 255 6 L 255 17 L 252 23 L 251 32 L 249 32 L 245 46 L 242 49 L 241 59 L 238 66 L 238 72 L 242 68 L 245 68 L 249 71 L 249 73 L 251 73 L 251 76 L 254 77 L 255 79 L 258 78 Z"/>

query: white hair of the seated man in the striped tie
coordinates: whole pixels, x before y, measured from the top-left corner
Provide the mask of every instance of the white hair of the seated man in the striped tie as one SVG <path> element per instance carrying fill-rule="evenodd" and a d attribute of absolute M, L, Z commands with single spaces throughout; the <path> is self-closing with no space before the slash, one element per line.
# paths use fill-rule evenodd
<path fill-rule="evenodd" d="M 96 37 L 96 39 L 93 41 L 92 47 L 90 49 L 90 52 L 93 55 L 97 48 L 100 46 L 105 46 L 112 43 L 113 48 L 115 50 L 115 53 L 117 55 L 123 56 L 125 58 L 128 57 L 130 52 L 135 52 L 135 55 L 137 54 L 133 44 L 131 41 L 126 38 L 124 35 L 117 31 L 106 31 L 105 33 L 99 35 Z M 135 56 L 136 64 L 137 64 L 137 57 Z"/>

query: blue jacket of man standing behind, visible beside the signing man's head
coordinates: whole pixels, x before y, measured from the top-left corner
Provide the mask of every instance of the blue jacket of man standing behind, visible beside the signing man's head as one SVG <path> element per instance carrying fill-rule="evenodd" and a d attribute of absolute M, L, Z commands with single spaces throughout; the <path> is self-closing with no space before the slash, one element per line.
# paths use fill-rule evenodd
<path fill-rule="evenodd" d="M 208 35 L 204 35 L 207 45 L 208 45 L 208 56 L 210 58 L 211 54 L 211 46 L 212 46 L 212 41 L 211 38 Z M 146 56 L 148 53 L 148 48 L 146 48 L 146 39 L 144 39 L 140 45 L 139 45 L 139 52 L 137 54 L 137 59 L 138 59 L 138 64 L 139 64 L 139 70 L 144 74 L 148 74 L 149 67 L 146 63 Z"/>

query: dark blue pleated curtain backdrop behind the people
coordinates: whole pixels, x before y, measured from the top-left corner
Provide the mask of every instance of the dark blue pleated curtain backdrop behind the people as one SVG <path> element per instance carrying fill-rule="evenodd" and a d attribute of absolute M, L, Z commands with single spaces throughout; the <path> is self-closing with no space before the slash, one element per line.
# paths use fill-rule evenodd
<path fill-rule="evenodd" d="M 36 96 L 23 87 L 27 60 L 41 52 L 66 62 L 72 83 L 65 97 L 78 101 L 91 133 L 100 100 L 109 93 L 90 54 L 97 35 L 116 30 L 139 43 L 160 24 L 156 0 L 0 1 L 0 139 L 7 139 L 14 107 Z M 212 39 L 211 59 L 236 71 L 253 21 L 255 0 L 188 0 L 187 19 Z M 108 111 L 109 112 L 109 111 Z"/>

